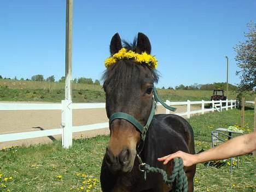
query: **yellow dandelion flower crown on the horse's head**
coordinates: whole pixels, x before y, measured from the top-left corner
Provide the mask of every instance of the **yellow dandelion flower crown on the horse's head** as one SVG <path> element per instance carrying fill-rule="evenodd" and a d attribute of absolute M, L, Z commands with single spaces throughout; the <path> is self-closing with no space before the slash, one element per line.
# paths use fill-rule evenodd
<path fill-rule="evenodd" d="M 138 64 L 146 63 L 149 68 L 152 69 L 158 66 L 158 60 L 155 59 L 155 56 L 149 55 L 146 52 L 138 54 L 132 50 L 127 51 L 125 48 L 122 48 L 118 51 L 118 53 L 115 53 L 112 57 L 108 57 L 105 60 L 106 68 L 112 66 L 114 63 L 121 59 L 131 59 Z"/>

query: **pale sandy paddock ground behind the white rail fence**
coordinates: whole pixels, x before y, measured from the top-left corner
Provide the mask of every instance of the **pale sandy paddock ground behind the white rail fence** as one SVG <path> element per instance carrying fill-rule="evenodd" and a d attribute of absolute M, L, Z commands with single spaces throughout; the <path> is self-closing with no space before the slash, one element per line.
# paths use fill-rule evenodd
<path fill-rule="evenodd" d="M 175 113 L 182 113 L 187 106 L 176 106 Z M 199 106 L 191 106 L 191 110 L 200 109 Z M 165 113 L 165 108 L 158 106 L 156 114 Z M 75 109 L 73 110 L 73 126 L 89 125 L 108 122 L 105 109 Z M 0 134 L 39 131 L 55 129 L 61 125 L 61 110 L 0 110 Z M 108 127 L 104 129 L 73 133 L 73 138 L 94 137 L 97 135 L 108 135 Z M 0 142 L 0 150 L 3 147 L 15 145 L 29 146 L 31 144 L 49 143 L 59 136 L 39 137 L 23 139 L 11 142 Z"/>

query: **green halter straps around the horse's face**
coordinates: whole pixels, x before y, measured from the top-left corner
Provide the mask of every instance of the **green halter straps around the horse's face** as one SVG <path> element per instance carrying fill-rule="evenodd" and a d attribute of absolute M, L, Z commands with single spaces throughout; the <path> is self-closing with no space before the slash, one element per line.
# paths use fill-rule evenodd
<path fill-rule="evenodd" d="M 176 108 L 168 106 L 164 101 L 161 100 L 161 98 L 159 98 L 155 87 L 153 88 L 153 95 L 154 95 L 154 97 L 152 100 L 152 108 L 151 108 L 146 125 L 143 126 L 134 117 L 132 117 L 132 115 L 123 113 L 123 112 L 113 113 L 109 118 L 109 124 L 111 124 L 114 119 L 125 119 L 126 121 L 129 121 L 132 125 L 134 125 L 139 132 L 141 132 L 141 139 L 142 139 L 142 141 L 144 141 L 146 138 L 146 133 L 148 131 L 148 127 L 154 117 L 156 102 L 160 102 L 162 104 L 162 106 L 164 106 L 168 110 L 171 110 L 173 112 L 176 110 Z"/>

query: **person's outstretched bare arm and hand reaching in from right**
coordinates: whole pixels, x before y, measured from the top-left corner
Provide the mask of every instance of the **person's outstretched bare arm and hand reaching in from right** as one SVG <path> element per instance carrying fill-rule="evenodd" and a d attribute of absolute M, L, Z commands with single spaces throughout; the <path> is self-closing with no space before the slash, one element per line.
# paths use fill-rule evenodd
<path fill-rule="evenodd" d="M 184 166 L 191 166 L 199 162 L 228 159 L 234 156 L 245 155 L 256 150 L 256 131 L 247 135 L 238 136 L 220 144 L 217 147 L 206 150 L 199 154 L 188 154 L 178 151 L 171 155 L 158 158 L 167 164 L 173 158 L 182 158 Z"/>

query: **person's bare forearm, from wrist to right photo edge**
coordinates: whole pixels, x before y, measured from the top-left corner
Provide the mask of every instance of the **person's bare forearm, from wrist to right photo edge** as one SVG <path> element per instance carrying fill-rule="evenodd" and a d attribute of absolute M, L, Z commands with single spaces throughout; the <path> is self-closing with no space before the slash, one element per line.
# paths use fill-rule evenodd
<path fill-rule="evenodd" d="M 194 164 L 210 160 L 228 159 L 245 155 L 256 149 L 256 132 L 235 137 L 229 141 L 195 155 Z"/>

